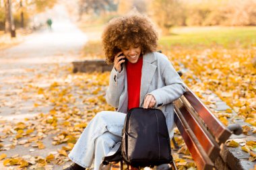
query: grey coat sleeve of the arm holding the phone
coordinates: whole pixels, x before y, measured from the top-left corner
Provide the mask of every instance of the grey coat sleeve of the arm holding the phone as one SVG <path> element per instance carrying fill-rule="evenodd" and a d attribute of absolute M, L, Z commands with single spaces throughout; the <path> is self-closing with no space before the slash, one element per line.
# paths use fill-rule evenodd
<path fill-rule="evenodd" d="M 125 67 L 124 67 L 125 68 Z M 115 108 L 119 107 L 119 98 L 121 93 L 125 89 L 125 69 L 119 73 L 113 67 L 110 77 L 109 77 L 109 85 L 106 89 L 106 102 L 112 105 Z"/>

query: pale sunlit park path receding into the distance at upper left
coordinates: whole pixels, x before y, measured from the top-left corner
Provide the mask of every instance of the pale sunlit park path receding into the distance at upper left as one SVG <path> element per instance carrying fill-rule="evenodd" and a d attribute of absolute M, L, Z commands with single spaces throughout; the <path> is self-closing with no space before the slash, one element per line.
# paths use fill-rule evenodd
<path fill-rule="evenodd" d="M 1 106 L 0 116 L 13 117 L 15 109 L 23 108 L 19 105 L 24 103 L 11 99 L 20 92 L 19 87 L 23 83 L 79 58 L 79 52 L 87 41 L 86 34 L 71 22 L 63 6 L 58 5 L 52 10 L 55 11 L 52 31 L 41 30 L 26 37 L 22 44 L 0 51 L 0 100 L 6 100 L 8 106 L 15 106 Z"/>

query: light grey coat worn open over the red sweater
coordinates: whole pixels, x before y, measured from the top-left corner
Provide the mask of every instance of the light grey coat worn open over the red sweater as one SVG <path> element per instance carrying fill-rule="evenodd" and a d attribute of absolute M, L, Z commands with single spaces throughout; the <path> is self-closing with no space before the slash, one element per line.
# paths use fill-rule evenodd
<path fill-rule="evenodd" d="M 141 71 L 139 107 L 143 108 L 146 95 L 151 94 L 156 99 L 154 108 L 162 110 L 166 117 L 166 124 L 170 138 L 173 136 L 174 108 L 172 101 L 178 99 L 185 92 L 185 85 L 175 71 L 168 58 L 159 52 L 143 55 Z M 106 90 L 106 102 L 117 108 L 117 112 L 127 113 L 128 93 L 125 65 L 121 73 L 113 70 Z"/>

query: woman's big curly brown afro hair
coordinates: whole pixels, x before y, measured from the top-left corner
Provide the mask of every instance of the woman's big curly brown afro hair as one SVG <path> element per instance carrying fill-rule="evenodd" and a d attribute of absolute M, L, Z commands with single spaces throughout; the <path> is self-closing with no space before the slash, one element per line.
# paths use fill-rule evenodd
<path fill-rule="evenodd" d="M 111 19 L 102 33 L 102 45 L 106 62 L 112 64 L 122 48 L 139 45 L 141 53 L 154 52 L 158 34 L 148 17 L 139 13 Z"/>

